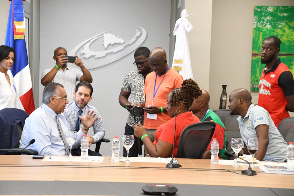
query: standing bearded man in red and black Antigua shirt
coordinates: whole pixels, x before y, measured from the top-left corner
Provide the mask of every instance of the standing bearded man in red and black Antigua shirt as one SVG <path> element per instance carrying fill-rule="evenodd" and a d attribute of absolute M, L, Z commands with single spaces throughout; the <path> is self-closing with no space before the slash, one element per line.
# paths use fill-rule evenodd
<path fill-rule="evenodd" d="M 278 127 L 294 112 L 294 81 L 289 68 L 280 61 L 281 40 L 270 36 L 263 40 L 260 56 L 265 68 L 259 81 L 258 105 L 265 108 Z"/>

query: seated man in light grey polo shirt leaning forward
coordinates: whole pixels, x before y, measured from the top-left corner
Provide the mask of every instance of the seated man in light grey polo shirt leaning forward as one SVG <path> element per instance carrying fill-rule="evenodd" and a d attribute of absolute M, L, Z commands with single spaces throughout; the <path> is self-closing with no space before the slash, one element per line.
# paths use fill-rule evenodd
<path fill-rule="evenodd" d="M 238 117 L 241 136 L 245 145 L 248 138 L 258 138 L 258 151 L 255 158 L 262 161 L 275 158 L 276 161 L 286 160 L 287 143 L 270 118 L 269 113 L 251 102 L 249 91 L 244 88 L 236 89 L 229 96 L 231 115 Z M 247 147 L 244 153 L 249 154 Z"/>

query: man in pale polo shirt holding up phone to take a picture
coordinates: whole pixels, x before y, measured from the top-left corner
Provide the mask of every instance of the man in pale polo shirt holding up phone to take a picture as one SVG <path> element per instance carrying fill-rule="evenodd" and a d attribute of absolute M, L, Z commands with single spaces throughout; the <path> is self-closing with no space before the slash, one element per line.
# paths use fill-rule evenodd
<path fill-rule="evenodd" d="M 66 93 L 69 95 L 68 100 L 74 100 L 74 91 L 76 88 L 77 81 L 86 81 L 92 83 L 93 79 L 91 73 L 83 65 L 83 62 L 78 56 L 75 55 L 76 59 L 72 64 L 81 68 L 67 67 L 66 63 L 69 60 L 74 59 L 67 56 L 67 51 L 63 47 L 58 47 L 54 50 L 53 59 L 56 61 L 55 66 L 52 68 L 45 69 L 42 73 L 41 84 L 46 86 L 50 82 L 60 83 L 64 86 Z"/>

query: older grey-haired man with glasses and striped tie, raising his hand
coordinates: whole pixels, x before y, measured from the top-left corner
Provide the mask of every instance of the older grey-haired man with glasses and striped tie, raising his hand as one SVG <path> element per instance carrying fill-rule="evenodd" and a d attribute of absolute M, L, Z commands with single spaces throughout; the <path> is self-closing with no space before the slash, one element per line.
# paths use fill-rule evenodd
<path fill-rule="evenodd" d="M 65 133 L 70 131 L 70 126 L 61 114 L 67 103 L 69 101 L 64 87 L 59 83 L 48 83 L 43 91 L 43 105 L 26 119 L 19 147 L 24 148 L 31 139 L 35 139 L 36 142 L 28 149 L 36 150 L 39 155 L 69 155 Z M 83 134 L 87 134 L 98 119 L 94 118 L 95 115 L 93 111 L 88 111 L 84 118 L 80 117 L 83 126 L 73 148 L 80 144 Z"/>

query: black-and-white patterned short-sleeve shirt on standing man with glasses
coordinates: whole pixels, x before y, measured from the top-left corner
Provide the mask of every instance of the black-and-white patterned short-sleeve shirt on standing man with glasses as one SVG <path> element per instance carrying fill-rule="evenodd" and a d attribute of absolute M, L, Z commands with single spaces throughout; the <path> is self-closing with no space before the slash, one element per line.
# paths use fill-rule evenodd
<path fill-rule="evenodd" d="M 138 71 L 138 69 L 134 69 L 130 71 L 123 80 L 122 89 L 127 92 L 131 92 L 129 97 L 129 101 L 132 103 L 144 103 L 145 102 L 145 94 L 144 94 L 144 76 L 142 73 Z M 133 127 L 134 124 L 137 124 L 138 121 L 143 125 L 144 123 L 144 115 L 136 116 L 136 122 L 134 117 L 130 113 L 127 119 L 127 125 Z"/>

